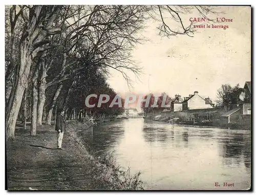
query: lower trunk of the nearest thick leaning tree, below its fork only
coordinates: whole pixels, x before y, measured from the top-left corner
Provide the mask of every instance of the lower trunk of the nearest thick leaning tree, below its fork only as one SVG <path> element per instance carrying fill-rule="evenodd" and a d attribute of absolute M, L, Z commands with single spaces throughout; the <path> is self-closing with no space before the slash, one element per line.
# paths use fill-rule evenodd
<path fill-rule="evenodd" d="M 22 103 L 22 97 L 28 84 L 28 77 L 31 67 L 31 56 L 28 54 L 28 41 L 22 42 L 20 45 L 20 64 L 17 68 L 16 79 L 11 90 L 6 109 L 6 132 L 7 139 L 14 139 L 15 124 Z"/>

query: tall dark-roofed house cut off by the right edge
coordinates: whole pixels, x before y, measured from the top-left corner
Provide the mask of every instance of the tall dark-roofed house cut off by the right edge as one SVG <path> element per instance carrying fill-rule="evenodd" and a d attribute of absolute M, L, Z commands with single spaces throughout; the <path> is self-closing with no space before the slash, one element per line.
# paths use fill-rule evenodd
<path fill-rule="evenodd" d="M 246 81 L 243 92 L 243 115 L 251 115 L 251 81 Z"/>

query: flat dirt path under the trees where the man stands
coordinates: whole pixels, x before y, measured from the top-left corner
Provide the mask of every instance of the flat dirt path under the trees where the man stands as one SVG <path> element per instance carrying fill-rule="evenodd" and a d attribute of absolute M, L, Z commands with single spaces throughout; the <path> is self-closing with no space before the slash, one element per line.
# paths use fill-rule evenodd
<path fill-rule="evenodd" d="M 9 190 L 75 190 L 91 189 L 90 173 L 79 164 L 69 133 L 64 133 L 58 150 L 54 126 L 42 126 L 37 136 L 18 130 L 15 140 L 7 142 L 7 180 Z M 79 157 L 81 158 L 81 157 Z"/>

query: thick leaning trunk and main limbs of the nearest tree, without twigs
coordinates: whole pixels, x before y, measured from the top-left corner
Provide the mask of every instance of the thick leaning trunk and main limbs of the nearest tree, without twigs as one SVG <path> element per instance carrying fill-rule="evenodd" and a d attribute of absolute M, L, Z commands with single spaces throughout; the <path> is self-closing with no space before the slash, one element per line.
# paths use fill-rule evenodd
<path fill-rule="evenodd" d="M 62 6 L 52 6 L 52 9 L 49 10 L 49 14 L 45 14 L 44 11 L 42 12 L 42 9 L 46 10 L 46 8 L 46 6 L 33 6 L 29 9 L 29 16 L 31 17 L 29 17 L 29 20 L 25 21 L 22 37 L 19 40 L 19 64 L 15 66 L 16 70 L 14 73 L 14 84 L 12 86 L 11 94 L 6 107 L 7 139 L 14 139 L 15 124 L 18 117 L 20 104 L 22 103 L 24 90 L 27 88 L 31 63 L 39 51 L 39 46 L 35 48 L 34 43 L 41 42 L 47 36 L 47 34 L 41 33 L 41 30 L 39 30 L 40 21 L 46 19 L 45 27 L 51 28 L 53 21 L 57 16 L 58 10 L 60 10 Z M 60 31 L 59 29 L 53 29 L 53 32 L 59 33 Z M 13 66 L 11 66 L 11 68 L 14 69 Z M 7 70 L 10 73 L 13 72 L 11 68 L 8 68 Z"/>

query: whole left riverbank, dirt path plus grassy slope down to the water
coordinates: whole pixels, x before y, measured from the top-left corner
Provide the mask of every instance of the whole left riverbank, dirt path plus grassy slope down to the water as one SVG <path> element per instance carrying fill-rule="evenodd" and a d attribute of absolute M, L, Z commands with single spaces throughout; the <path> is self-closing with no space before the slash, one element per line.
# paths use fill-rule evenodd
<path fill-rule="evenodd" d="M 9 190 L 137 190 L 143 189 L 140 173 L 131 176 L 111 156 L 92 156 L 78 136 L 89 125 L 71 122 L 62 147 L 56 149 L 54 126 L 42 125 L 37 136 L 17 130 L 8 141 L 7 183 Z"/>

